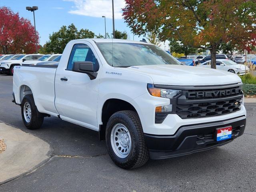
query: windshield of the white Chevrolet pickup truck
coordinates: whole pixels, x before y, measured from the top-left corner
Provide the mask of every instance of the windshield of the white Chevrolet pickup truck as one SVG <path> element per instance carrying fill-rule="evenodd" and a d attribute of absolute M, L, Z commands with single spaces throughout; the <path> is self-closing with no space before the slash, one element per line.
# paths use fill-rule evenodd
<path fill-rule="evenodd" d="M 160 47 L 138 43 L 96 43 L 106 62 L 113 67 L 182 65 Z"/>

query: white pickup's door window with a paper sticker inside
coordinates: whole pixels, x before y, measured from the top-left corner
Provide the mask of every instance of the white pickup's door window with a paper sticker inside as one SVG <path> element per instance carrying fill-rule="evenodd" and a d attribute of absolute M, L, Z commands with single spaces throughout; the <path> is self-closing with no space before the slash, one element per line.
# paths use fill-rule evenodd
<path fill-rule="evenodd" d="M 68 70 L 72 70 L 74 62 L 76 61 L 90 61 L 93 64 L 96 63 L 96 57 L 94 56 L 91 48 L 86 44 L 75 44 L 72 48 L 69 60 Z"/>

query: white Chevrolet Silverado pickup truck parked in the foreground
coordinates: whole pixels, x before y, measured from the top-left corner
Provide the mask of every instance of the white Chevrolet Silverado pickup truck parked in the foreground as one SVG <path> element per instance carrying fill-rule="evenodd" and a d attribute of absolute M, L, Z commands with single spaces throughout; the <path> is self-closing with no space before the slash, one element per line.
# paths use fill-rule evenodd
<path fill-rule="evenodd" d="M 15 66 L 13 96 L 22 119 L 44 117 L 90 128 L 124 169 L 212 149 L 246 126 L 241 79 L 184 66 L 146 42 L 72 40 L 58 66 Z"/>

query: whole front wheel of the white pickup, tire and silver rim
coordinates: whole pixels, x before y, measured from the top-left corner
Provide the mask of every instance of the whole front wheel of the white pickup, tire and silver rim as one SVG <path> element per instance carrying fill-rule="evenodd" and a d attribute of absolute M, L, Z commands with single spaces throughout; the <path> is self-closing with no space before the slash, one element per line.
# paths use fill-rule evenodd
<path fill-rule="evenodd" d="M 121 168 L 138 168 L 148 161 L 142 125 L 134 111 L 119 111 L 110 117 L 106 126 L 106 144 L 110 158 Z"/>

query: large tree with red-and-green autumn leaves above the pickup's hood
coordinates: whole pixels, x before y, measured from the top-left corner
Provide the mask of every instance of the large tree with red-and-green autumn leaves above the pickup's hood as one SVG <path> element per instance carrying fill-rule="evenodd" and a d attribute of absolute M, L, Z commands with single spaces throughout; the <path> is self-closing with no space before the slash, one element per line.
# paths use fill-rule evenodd
<path fill-rule="evenodd" d="M 256 45 L 255 0 L 125 0 L 123 16 L 132 32 L 155 31 L 160 40 L 174 38 L 194 48 L 209 49 L 216 68 L 222 42 Z"/>

